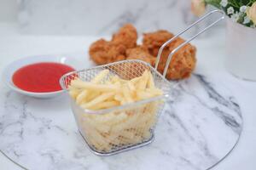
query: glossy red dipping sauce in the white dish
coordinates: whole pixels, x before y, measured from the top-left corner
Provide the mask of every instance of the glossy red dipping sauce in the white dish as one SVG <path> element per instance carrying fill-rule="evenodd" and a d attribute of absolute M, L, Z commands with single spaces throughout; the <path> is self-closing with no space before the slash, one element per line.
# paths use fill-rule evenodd
<path fill-rule="evenodd" d="M 60 63 L 36 63 L 15 71 L 13 82 L 16 87 L 28 92 L 55 92 L 61 90 L 61 76 L 70 71 L 74 71 L 71 66 Z"/>

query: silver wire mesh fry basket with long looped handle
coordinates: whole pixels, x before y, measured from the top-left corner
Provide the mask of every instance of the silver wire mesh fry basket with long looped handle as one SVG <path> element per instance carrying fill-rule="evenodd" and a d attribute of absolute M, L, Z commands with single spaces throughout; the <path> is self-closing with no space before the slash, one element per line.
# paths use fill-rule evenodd
<path fill-rule="evenodd" d="M 163 75 L 161 75 L 160 72 L 157 71 L 157 67 L 161 52 L 166 45 L 183 34 L 183 32 L 189 30 L 189 28 L 205 19 L 208 15 L 214 13 L 221 13 L 221 18 L 174 49 L 172 53 L 169 54 L 165 71 Z M 117 75 L 125 80 L 140 77 L 145 70 L 148 70 L 154 78 L 155 87 L 160 88 L 163 91 L 162 95 L 154 98 L 143 99 L 131 104 L 115 106 L 113 108 L 98 111 L 82 109 L 77 105 L 76 101 L 71 98 L 71 106 L 79 127 L 79 132 L 83 136 L 84 141 L 87 143 L 90 150 L 100 156 L 110 156 L 121 151 L 131 150 L 149 144 L 154 139 L 154 127 L 164 108 L 166 99 L 169 97 L 168 94 L 177 84 L 176 82 L 169 82 L 165 78 L 172 55 L 186 43 L 190 42 L 203 31 L 206 31 L 219 20 L 223 19 L 224 14 L 221 11 L 212 11 L 181 33 L 177 34 L 176 37 L 167 41 L 159 50 L 155 67 L 152 67 L 141 60 L 130 59 L 114 62 L 108 65 L 96 66 L 83 71 L 73 71 L 61 77 L 61 87 L 68 90 L 68 86 L 76 77 L 79 77 L 83 81 L 90 82 L 90 80 L 96 77 L 102 70 L 108 69 L 110 75 Z M 108 78 L 109 77 L 106 77 L 106 79 L 102 81 L 108 81 Z"/>

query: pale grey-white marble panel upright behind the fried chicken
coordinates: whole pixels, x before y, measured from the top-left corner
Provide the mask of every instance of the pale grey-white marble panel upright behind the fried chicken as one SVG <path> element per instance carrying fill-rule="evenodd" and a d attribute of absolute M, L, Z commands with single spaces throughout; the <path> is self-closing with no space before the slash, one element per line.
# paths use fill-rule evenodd
<path fill-rule="evenodd" d="M 177 33 L 197 19 L 189 0 L 20 0 L 18 18 L 24 33 L 79 35 L 108 35 L 127 22 L 139 33 L 158 29 Z"/>

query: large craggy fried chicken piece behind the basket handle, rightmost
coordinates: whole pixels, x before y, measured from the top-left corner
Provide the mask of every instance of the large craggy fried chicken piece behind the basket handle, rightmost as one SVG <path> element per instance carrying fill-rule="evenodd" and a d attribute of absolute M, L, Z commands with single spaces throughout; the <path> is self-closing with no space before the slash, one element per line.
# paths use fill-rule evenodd
<path fill-rule="evenodd" d="M 150 54 L 157 56 L 160 46 L 172 37 L 172 33 L 168 31 L 155 31 L 152 33 L 147 33 L 144 34 L 143 37 L 143 46 L 148 48 Z M 166 46 L 160 58 L 158 71 L 163 73 L 168 55 L 182 42 L 184 42 L 184 40 L 177 37 L 173 42 Z M 172 56 L 166 78 L 169 80 L 177 80 L 189 77 L 191 72 L 195 69 L 195 52 L 196 48 L 190 43 L 179 49 L 177 53 Z"/>

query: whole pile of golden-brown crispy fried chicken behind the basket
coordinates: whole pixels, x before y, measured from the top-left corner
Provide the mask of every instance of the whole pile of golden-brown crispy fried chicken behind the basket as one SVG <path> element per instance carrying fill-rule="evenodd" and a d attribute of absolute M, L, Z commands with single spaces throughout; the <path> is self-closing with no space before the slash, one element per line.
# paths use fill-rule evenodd
<path fill-rule="evenodd" d="M 97 65 L 124 59 L 141 59 L 154 66 L 160 47 L 172 37 L 174 35 L 171 32 L 164 30 L 144 33 L 143 45 L 137 46 L 137 30 L 131 24 L 126 24 L 118 32 L 113 34 L 110 42 L 104 39 L 93 42 L 89 50 L 90 59 L 94 60 Z M 158 71 L 163 73 L 168 55 L 182 42 L 184 40 L 181 37 L 177 37 L 172 43 L 166 46 L 160 58 Z M 190 43 L 179 49 L 172 56 L 166 78 L 177 80 L 189 77 L 191 72 L 195 70 L 195 53 L 196 48 Z M 129 66 L 127 68 L 131 67 Z"/>

